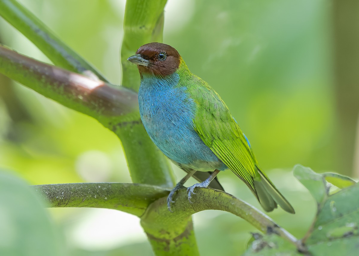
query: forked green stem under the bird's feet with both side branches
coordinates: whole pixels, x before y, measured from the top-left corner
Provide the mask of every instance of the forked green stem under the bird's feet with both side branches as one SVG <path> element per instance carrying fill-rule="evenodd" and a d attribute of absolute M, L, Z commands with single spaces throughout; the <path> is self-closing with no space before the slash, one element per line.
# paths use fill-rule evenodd
<path fill-rule="evenodd" d="M 305 251 L 292 234 L 266 214 L 220 190 L 197 189 L 188 202 L 186 189 L 178 190 L 167 209 L 168 190 L 157 186 L 127 183 L 77 183 L 33 186 L 50 207 L 97 207 L 122 210 L 141 218 L 156 255 L 197 255 L 191 215 L 202 210 L 223 210 L 249 222 L 265 234 L 277 234 Z M 181 246 L 180 246 L 181 245 Z M 167 254 L 168 255 L 168 254 Z"/>

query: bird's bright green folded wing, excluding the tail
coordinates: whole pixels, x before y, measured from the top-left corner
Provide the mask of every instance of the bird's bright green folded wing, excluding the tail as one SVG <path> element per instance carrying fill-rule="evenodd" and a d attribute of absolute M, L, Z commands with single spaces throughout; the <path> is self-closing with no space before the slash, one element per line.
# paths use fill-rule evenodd
<path fill-rule="evenodd" d="M 193 120 L 195 131 L 206 146 L 241 178 L 258 198 L 253 182 L 256 176 L 256 160 L 246 138 L 220 96 L 199 77 L 192 78 L 193 86 L 187 86 L 187 90 L 198 106 Z"/>

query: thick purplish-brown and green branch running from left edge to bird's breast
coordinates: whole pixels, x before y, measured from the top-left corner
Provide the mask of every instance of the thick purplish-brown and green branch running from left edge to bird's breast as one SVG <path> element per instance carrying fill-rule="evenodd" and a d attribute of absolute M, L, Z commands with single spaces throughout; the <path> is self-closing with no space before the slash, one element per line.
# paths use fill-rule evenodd
<path fill-rule="evenodd" d="M 101 118 L 138 110 L 137 93 L 40 62 L 0 46 L 0 72 L 68 108 Z"/>

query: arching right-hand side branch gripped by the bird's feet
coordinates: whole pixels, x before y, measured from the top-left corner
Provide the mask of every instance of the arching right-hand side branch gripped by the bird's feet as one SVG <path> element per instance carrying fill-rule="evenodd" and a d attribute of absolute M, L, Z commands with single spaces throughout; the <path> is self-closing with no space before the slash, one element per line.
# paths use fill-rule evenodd
<path fill-rule="evenodd" d="M 192 197 L 191 204 L 188 202 L 186 189 L 181 189 L 178 190 L 174 200 L 176 203 L 172 204 L 173 213 L 167 209 L 166 198 L 160 198 L 149 206 L 145 215 L 141 218 L 145 232 L 155 235 L 156 232 L 160 232 L 164 227 L 171 227 L 174 223 L 185 221 L 194 213 L 209 209 L 223 210 L 241 217 L 262 233 L 278 234 L 278 236 L 298 246 L 298 240 L 288 231 L 279 227 L 266 214 L 223 191 L 196 189 L 196 195 Z M 161 218 L 158 218 L 158 216 L 161 216 Z"/>

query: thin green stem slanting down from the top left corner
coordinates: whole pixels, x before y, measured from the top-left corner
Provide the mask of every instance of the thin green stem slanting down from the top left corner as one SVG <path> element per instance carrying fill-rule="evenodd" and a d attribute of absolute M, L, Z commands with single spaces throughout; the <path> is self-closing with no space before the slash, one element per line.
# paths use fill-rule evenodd
<path fill-rule="evenodd" d="M 0 0 L 0 16 L 34 43 L 56 66 L 81 73 L 92 71 L 108 82 L 92 65 L 56 37 L 39 19 L 15 0 Z"/>

